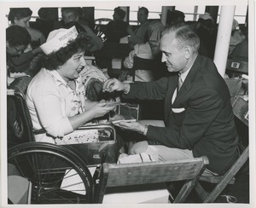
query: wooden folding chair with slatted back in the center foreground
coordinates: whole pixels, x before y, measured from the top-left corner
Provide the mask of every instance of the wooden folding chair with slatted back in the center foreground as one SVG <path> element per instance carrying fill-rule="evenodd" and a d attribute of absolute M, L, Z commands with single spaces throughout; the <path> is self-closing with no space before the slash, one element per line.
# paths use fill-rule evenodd
<path fill-rule="evenodd" d="M 95 203 L 102 203 L 106 188 L 159 182 L 185 181 L 174 203 L 184 202 L 201 176 L 207 157 L 179 161 L 157 161 L 135 164 L 104 163 L 96 170 Z"/>

